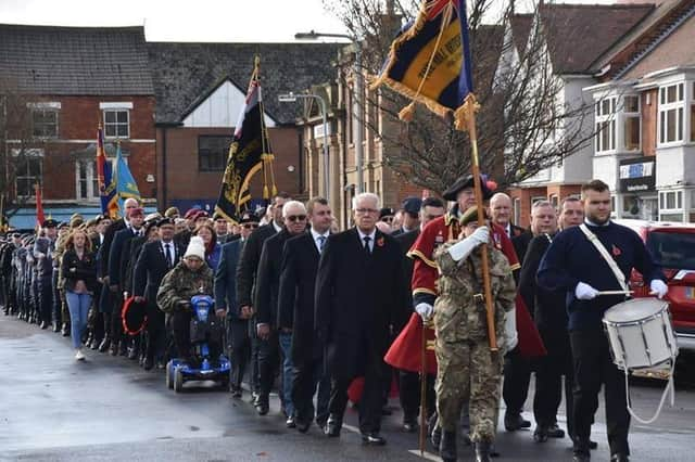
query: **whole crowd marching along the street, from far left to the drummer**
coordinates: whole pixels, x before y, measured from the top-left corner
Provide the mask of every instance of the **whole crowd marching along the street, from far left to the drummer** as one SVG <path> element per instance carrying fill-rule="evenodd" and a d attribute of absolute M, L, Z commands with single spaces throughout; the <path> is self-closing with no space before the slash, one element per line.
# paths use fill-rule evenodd
<path fill-rule="evenodd" d="M 621 298 L 598 296 L 615 288 L 615 277 L 579 226 L 614 249 L 623 273 L 641 271 L 658 296 L 667 291 L 662 274 L 642 242 L 610 221 L 601 181 L 558 209 L 534 203 L 526 230 L 510 221 L 509 196 L 484 181 L 482 194 L 484 227 L 470 176 L 443 194 L 448 209 L 435 197 L 409 197 L 393 210 L 362 193 L 352 203 L 354 227 L 342 232 L 321 197 L 302 203 L 280 193 L 238 224 L 200 209 L 146 216 L 128 198 L 122 219 L 74 215 L 65 223 L 43 221 L 36 234 L 9 233 L 0 243 L 1 301 L 7 316 L 71 336 L 76 360 L 91 348 L 152 370 L 173 357 L 197 361 L 190 299 L 213 295 L 227 334 L 226 345 L 211 347 L 231 356 L 235 398 L 245 380 L 265 415 L 277 382 L 289 428 L 306 433 L 316 422 L 339 437 L 350 389 L 363 442 L 383 445 L 380 423 L 395 382 L 403 429 L 416 432 L 425 409 L 445 461 L 457 459 L 459 429 L 477 460 L 495 454 L 501 400 L 506 431 L 531 426 L 521 413 L 532 373 L 533 439 L 566 436 L 557 422 L 564 390 L 573 458 L 586 461 L 603 385 L 612 460 L 628 460 L 627 398 L 601 326 Z M 433 333 L 425 376 L 421 362 L 413 365 L 422 329 Z M 356 377 L 364 377 L 357 399 Z"/>

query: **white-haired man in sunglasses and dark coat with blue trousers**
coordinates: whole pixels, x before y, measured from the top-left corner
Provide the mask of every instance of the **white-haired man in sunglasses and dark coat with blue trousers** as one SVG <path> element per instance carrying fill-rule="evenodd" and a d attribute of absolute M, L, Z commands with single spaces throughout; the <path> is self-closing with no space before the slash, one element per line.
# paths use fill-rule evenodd
<path fill-rule="evenodd" d="M 258 272 L 256 274 L 255 307 L 256 334 L 258 336 L 258 375 L 261 393 L 256 401 L 258 414 L 268 412 L 268 396 L 275 382 L 275 372 L 282 352 L 282 403 L 287 413 L 287 426 L 293 428 L 292 359 L 290 357 L 291 330 L 280 330 L 278 321 L 278 292 L 280 265 L 285 242 L 306 230 L 306 208 L 298 201 L 288 201 L 282 206 L 283 228 L 263 244 Z"/>

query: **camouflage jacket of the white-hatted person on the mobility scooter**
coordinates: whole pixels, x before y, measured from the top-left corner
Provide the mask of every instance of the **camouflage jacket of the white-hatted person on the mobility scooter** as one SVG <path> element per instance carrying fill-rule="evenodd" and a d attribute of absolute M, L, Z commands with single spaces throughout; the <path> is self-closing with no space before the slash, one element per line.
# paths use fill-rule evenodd
<path fill-rule="evenodd" d="M 193 272 L 181 260 L 162 280 L 156 304 L 162 311 L 170 313 L 180 310 L 180 301 L 190 301 L 193 295 L 213 296 L 213 270 L 205 264 Z"/>

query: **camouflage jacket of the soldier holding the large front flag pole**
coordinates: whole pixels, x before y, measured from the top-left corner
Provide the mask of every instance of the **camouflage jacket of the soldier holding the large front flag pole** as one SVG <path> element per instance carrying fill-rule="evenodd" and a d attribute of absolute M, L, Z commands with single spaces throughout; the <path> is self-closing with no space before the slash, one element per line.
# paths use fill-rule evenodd
<path fill-rule="evenodd" d="M 437 337 L 444 342 L 485 341 L 488 320 L 482 298 L 483 280 L 480 248 L 465 260 L 454 261 L 446 252 L 456 242 L 441 245 L 434 257 L 439 265 L 439 297 L 434 303 Z M 492 298 L 495 308 L 495 331 L 504 339 L 505 312 L 514 309 L 516 287 L 511 268 L 504 254 L 488 247 Z M 480 295 L 478 295 L 480 294 Z M 504 345 L 504 342 L 500 342 Z"/>

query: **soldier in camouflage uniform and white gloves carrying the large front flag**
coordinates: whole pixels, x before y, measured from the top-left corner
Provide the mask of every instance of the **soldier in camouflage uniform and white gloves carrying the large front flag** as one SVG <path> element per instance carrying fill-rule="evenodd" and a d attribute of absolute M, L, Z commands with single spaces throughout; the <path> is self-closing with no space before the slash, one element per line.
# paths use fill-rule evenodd
<path fill-rule="evenodd" d="M 460 218 L 458 241 L 440 246 L 434 256 L 439 265 L 439 297 L 434 304 L 437 342 L 437 410 L 443 429 L 440 454 L 456 460 L 456 427 L 462 407 L 470 400 L 470 439 L 476 460 L 486 461 L 495 436 L 500 384 L 504 358 L 505 317 L 514 313 L 516 295 L 509 262 L 504 254 L 489 246 L 490 278 L 495 331 L 501 348 L 492 352 L 488 339 L 480 244 L 488 243 L 489 229 L 478 229 L 477 208 Z M 464 238 L 465 239 L 460 239 Z"/>

